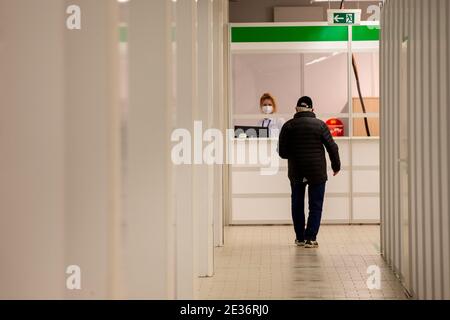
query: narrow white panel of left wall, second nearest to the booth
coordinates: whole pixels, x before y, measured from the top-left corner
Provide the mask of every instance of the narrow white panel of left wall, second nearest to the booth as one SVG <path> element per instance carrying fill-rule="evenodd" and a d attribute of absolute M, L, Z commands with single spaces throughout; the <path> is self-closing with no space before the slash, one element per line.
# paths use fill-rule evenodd
<path fill-rule="evenodd" d="M 198 3 L 199 108 L 197 120 L 203 130 L 213 127 L 213 0 Z M 214 166 L 197 167 L 196 193 L 199 213 L 199 275 L 213 275 L 214 257 Z"/>

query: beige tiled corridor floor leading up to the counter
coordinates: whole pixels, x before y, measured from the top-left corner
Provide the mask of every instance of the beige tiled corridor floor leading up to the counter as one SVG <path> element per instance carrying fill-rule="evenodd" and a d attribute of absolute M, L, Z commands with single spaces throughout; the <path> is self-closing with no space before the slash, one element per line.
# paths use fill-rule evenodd
<path fill-rule="evenodd" d="M 405 299 L 381 258 L 378 226 L 322 226 L 320 248 L 293 244 L 291 226 L 225 229 L 215 275 L 201 278 L 200 299 Z M 367 268 L 381 269 L 381 290 L 367 287 Z"/>

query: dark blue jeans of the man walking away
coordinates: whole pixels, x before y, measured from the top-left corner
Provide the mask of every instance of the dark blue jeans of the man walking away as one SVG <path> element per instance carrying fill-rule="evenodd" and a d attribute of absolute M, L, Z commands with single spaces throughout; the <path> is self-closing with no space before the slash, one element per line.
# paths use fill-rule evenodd
<path fill-rule="evenodd" d="M 309 217 L 305 230 L 305 191 L 306 183 L 291 183 L 292 189 L 292 220 L 298 241 L 317 240 L 320 222 L 322 220 L 323 200 L 326 183 L 309 185 Z"/>

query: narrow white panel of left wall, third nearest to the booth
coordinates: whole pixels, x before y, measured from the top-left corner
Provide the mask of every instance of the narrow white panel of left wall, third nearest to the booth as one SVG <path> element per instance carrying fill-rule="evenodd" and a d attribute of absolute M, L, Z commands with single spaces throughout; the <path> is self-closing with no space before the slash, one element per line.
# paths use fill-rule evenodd
<path fill-rule="evenodd" d="M 195 0 L 177 1 L 175 38 L 177 48 L 175 126 L 187 129 L 193 135 L 194 116 L 198 110 L 197 2 Z M 193 165 L 187 164 L 175 167 L 174 171 L 177 299 L 192 299 L 196 292 L 198 248 L 196 244 L 197 213 L 193 210 L 195 170 Z"/>

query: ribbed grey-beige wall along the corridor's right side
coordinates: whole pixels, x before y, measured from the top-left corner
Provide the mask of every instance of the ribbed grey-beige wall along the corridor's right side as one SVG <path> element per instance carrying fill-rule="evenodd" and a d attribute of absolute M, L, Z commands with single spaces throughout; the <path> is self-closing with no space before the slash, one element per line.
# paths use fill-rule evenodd
<path fill-rule="evenodd" d="M 450 298 L 448 208 L 449 37 L 446 0 L 388 0 L 381 37 L 382 251 L 419 299 Z M 409 259 L 401 258 L 400 48 L 408 41 Z M 403 260 L 403 261 L 402 261 Z"/>

